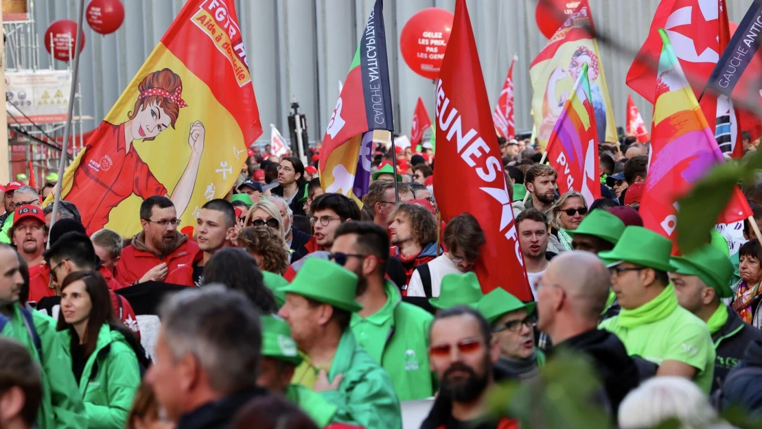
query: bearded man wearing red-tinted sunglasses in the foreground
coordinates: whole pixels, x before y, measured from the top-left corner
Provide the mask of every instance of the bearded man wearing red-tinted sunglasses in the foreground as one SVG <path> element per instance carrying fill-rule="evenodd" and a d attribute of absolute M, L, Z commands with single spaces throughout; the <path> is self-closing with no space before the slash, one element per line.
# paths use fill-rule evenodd
<path fill-rule="evenodd" d="M 518 427 L 514 420 L 493 417 L 487 404 L 500 345 L 484 316 L 469 306 L 443 310 L 434 317 L 429 338 L 440 390 L 421 429 Z"/>

